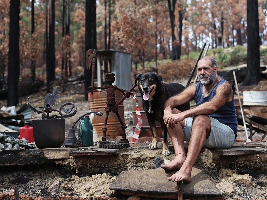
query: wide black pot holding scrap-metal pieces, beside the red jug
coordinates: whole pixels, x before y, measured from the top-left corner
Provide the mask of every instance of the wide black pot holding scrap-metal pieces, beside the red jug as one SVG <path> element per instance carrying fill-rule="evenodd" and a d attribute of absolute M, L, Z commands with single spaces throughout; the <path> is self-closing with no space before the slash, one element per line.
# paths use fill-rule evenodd
<path fill-rule="evenodd" d="M 39 149 L 60 148 L 65 140 L 65 119 L 33 120 L 33 138 Z"/>

